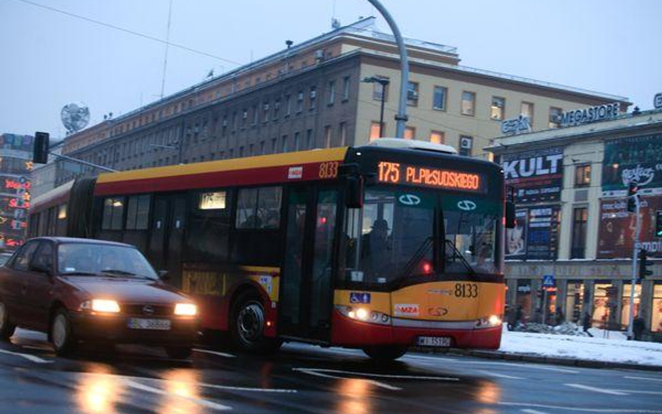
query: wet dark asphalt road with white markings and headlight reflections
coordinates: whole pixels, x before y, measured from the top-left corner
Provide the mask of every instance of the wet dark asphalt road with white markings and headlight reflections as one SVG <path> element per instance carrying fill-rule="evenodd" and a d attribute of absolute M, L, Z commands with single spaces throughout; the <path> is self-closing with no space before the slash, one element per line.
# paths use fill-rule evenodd
<path fill-rule="evenodd" d="M 662 372 L 286 344 L 270 357 L 89 348 L 56 357 L 44 334 L 0 343 L 0 413 L 661 413 Z"/>

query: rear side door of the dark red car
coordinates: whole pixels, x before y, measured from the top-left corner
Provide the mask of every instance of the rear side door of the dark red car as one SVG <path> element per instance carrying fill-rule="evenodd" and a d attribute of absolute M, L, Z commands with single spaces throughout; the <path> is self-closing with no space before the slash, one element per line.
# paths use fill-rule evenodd
<path fill-rule="evenodd" d="M 17 325 L 25 325 L 27 318 L 27 306 L 22 301 L 23 282 L 26 276 L 28 264 L 34 255 L 38 241 L 34 240 L 24 244 L 16 256 L 2 269 L 0 279 L 0 297 L 7 306 L 10 318 Z"/>

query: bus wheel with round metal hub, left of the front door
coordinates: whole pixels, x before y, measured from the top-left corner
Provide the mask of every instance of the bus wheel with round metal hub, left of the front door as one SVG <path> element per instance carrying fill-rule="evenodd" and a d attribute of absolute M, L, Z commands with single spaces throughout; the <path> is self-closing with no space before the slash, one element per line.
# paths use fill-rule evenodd
<path fill-rule="evenodd" d="M 265 307 L 258 293 L 247 290 L 233 302 L 230 339 L 235 348 L 249 353 L 272 353 L 281 346 L 276 338 L 264 336 Z"/>

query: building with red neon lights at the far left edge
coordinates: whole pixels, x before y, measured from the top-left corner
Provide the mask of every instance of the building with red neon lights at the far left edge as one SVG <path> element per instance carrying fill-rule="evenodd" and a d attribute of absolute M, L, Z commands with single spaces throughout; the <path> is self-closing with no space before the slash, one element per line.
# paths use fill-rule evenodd
<path fill-rule="evenodd" d="M 13 250 L 24 242 L 33 142 L 30 135 L 0 135 L 0 249 Z"/>

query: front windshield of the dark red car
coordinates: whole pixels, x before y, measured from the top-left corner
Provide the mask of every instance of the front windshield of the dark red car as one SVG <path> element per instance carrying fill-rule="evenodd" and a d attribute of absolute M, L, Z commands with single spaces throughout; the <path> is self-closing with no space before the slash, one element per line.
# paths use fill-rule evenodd
<path fill-rule="evenodd" d="M 93 243 L 60 244 L 57 252 L 60 274 L 130 276 L 158 279 L 137 249 Z"/>

